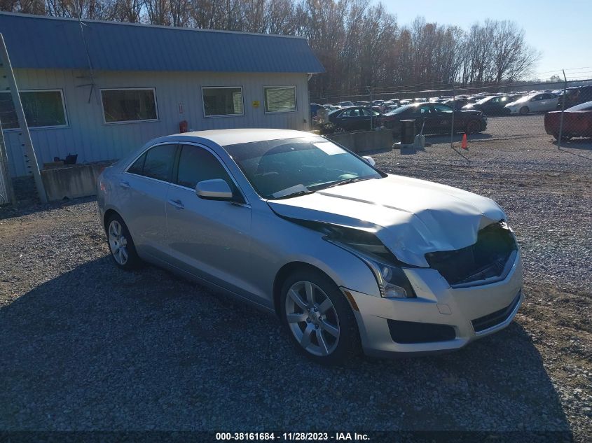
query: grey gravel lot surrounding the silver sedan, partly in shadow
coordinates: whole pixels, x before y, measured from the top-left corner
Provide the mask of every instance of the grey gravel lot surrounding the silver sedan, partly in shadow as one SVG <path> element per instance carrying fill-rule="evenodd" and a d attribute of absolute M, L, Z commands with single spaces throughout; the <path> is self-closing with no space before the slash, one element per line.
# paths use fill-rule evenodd
<path fill-rule="evenodd" d="M 520 119 L 509 139 L 469 140 L 470 162 L 438 137 L 414 155 L 374 156 L 385 171 L 492 197 L 521 244 L 516 321 L 442 356 L 319 367 L 271 316 L 154 267 L 118 270 L 94 199 L 0 209 L 0 430 L 518 430 L 589 441 L 592 141 L 557 150 L 548 136 L 518 138 L 542 116 Z"/>

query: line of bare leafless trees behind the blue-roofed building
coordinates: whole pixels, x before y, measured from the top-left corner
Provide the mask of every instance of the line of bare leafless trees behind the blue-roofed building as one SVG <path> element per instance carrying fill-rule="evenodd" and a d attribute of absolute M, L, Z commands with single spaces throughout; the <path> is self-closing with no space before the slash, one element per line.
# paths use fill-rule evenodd
<path fill-rule="evenodd" d="M 514 82 L 540 57 L 515 22 L 401 25 L 371 0 L 0 0 L 0 10 L 304 36 L 326 69 L 311 97 Z"/>

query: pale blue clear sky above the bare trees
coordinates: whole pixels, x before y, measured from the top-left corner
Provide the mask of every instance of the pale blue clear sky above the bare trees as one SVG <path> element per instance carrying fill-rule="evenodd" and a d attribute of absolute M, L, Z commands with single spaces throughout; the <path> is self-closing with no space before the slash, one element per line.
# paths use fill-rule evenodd
<path fill-rule="evenodd" d="M 542 52 L 532 78 L 592 78 L 592 0 L 382 0 L 399 25 L 415 17 L 469 29 L 487 18 L 512 20 L 529 45 Z"/>

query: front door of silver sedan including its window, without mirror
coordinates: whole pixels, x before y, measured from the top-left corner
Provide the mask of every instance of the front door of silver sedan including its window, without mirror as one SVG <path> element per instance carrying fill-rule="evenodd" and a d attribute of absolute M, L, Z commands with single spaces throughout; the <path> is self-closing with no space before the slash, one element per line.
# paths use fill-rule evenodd
<path fill-rule="evenodd" d="M 167 195 L 167 241 L 173 264 L 249 297 L 251 207 L 219 158 L 202 146 L 181 146 Z M 201 199 L 195 185 L 221 178 L 233 202 Z"/>

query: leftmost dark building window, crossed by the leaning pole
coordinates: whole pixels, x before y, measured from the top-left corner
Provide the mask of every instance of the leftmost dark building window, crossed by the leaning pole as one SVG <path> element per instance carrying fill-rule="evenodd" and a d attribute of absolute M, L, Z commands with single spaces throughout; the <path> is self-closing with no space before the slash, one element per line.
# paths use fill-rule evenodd
<path fill-rule="evenodd" d="M 66 127 L 66 106 L 62 90 L 20 91 L 20 101 L 29 127 Z M 18 118 L 10 92 L 0 93 L 2 129 L 18 128 Z"/>

